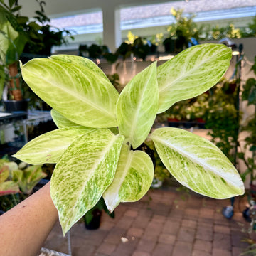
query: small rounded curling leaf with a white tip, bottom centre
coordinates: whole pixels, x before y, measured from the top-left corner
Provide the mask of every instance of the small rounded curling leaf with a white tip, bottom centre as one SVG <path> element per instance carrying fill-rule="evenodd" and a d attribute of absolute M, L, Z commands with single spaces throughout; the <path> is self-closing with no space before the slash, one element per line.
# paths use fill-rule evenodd
<path fill-rule="evenodd" d="M 138 201 L 149 190 L 154 176 L 154 165 L 143 151 L 130 151 L 124 144 L 114 180 L 103 194 L 110 213 L 120 202 Z"/>

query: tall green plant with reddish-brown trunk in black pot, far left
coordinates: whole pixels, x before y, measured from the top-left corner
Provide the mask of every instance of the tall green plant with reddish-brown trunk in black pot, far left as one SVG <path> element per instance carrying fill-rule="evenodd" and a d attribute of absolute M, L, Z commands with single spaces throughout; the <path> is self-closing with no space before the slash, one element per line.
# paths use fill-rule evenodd
<path fill-rule="evenodd" d="M 14 4 L 15 1 L 9 1 L 9 6 L 4 4 L 4 1 L 0 2 L 0 95 L 3 95 L 4 85 L 7 84 L 8 91 L 3 95 L 7 110 L 9 110 L 11 104 L 17 104 L 17 107 L 25 104 L 22 110 L 26 110 L 27 102 L 23 100 L 21 75 L 18 72 L 18 58 L 23 52 L 28 37 L 18 23 L 20 17 L 17 14 L 15 15 L 16 11 L 21 9 L 21 6 L 15 6 Z M 11 101 L 7 99 L 8 94 Z M 14 110 L 17 107 L 14 107 Z"/>

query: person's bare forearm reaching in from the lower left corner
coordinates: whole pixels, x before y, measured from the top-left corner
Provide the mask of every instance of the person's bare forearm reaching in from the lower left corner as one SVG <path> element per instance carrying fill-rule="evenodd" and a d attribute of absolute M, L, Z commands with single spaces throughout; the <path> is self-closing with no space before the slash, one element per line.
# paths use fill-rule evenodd
<path fill-rule="evenodd" d="M 48 182 L 0 216 L 0 255 L 37 255 L 57 220 Z"/>

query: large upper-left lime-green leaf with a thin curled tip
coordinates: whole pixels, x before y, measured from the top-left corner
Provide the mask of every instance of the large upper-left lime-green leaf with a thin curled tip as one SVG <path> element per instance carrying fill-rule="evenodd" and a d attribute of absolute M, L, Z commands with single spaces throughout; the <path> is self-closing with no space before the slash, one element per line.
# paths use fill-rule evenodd
<path fill-rule="evenodd" d="M 23 79 L 48 105 L 85 127 L 116 127 L 119 93 L 110 81 L 88 68 L 35 58 L 21 65 Z"/>

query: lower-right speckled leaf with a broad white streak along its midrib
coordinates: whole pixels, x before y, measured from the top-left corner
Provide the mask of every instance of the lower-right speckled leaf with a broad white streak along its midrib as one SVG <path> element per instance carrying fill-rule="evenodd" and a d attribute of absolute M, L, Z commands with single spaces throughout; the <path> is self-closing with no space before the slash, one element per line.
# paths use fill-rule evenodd
<path fill-rule="evenodd" d="M 245 193 L 238 171 L 207 139 L 178 128 L 155 129 L 151 139 L 161 161 L 183 186 L 218 199 Z"/>

